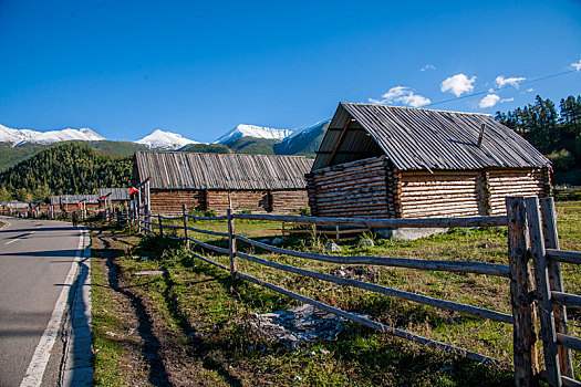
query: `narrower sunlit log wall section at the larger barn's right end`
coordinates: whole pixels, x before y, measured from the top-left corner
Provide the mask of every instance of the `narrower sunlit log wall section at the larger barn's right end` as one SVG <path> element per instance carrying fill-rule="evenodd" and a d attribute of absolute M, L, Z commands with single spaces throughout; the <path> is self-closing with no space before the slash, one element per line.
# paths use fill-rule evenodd
<path fill-rule="evenodd" d="M 550 172 L 548 168 L 491 169 L 490 205 L 491 215 L 506 215 L 505 197 L 551 195 Z"/>

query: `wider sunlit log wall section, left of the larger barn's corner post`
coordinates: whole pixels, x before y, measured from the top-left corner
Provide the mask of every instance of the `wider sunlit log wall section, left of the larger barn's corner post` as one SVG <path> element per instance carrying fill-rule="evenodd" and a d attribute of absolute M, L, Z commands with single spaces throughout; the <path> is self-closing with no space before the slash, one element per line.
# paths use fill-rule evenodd
<path fill-rule="evenodd" d="M 480 171 L 402 172 L 402 218 L 479 216 Z"/>

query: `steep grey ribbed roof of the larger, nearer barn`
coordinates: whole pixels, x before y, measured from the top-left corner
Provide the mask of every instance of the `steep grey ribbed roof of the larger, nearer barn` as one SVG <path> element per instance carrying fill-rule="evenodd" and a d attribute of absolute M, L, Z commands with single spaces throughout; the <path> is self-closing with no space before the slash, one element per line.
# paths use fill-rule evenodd
<path fill-rule="evenodd" d="M 366 136 L 371 136 L 394 166 L 403 170 L 550 165 L 527 140 L 486 114 L 340 103 L 313 170 L 328 165 L 347 119 L 355 121 L 349 126 L 349 132 L 353 133 L 351 138 L 343 137 L 332 165 L 376 156 L 377 149 L 370 147 Z M 486 127 L 484 140 L 478 147 L 483 124 Z M 357 133 L 357 127 L 364 132 Z"/>

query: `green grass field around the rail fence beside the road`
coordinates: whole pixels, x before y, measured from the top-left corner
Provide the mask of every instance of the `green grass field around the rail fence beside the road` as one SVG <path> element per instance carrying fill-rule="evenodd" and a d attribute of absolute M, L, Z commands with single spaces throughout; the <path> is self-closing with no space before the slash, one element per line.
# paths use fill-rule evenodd
<path fill-rule="evenodd" d="M 558 202 L 557 211 L 561 249 L 580 251 L 581 201 Z M 191 226 L 226 230 L 225 222 L 204 221 Z M 255 239 L 280 236 L 280 223 L 276 222 L 237 220 L 236 229 Z M 193 237 L 227 245 L 219 237 Z M 100 245 L 100 241 L 105 244 Z M 159 384 L 153 376 L 156 369 L 155 375 L 159 375 L 156 368 L 159 364 L 165 373 L 160 375 L 174 385 L 513 385 L 512 375 L 506 369 L 455 358 L 354 324 L 336 341 L 319 341 L 309 347 L 290 349 L 269 343 L 249 328 L 248 314 L 286 310 L 297 305 L 292 300 L 242 280 L 232 280 L 227 272 L 193 258 L 180 242 L 160 238 L 142 240 L 123 230 L 100 229 L 93 232 L 93 243 L 101 248 L 95 248 L 93 254 L 97 385 Z M 323 252 L 325 244 L 324 238 L 312 233 L 288 238 L 283 247 Z M 453 229 L 413 242 L 380 239 L 375 240 L 374 248 L 360 248 L 356 241 L 340 245 L 341 254 L 345 255 L 507 263 L 504 228 Z M 227 257 L 212 255 L 199 248 L 194 250 L 227 265 Z M 341 268 L 280 257 L 243 243 L 239 250 L 299 268 L 330 274 L 341 271 L 372 283 L 510 313 L 506 279 L 378 266 Z M 165 270 L 160 276 L 133 275 L 158 269 Z M 332 306 L 369 314 L 375 321 L 511 363 L 512 328 L 507 324 L 320 282 L 243 260 L 239 260 L 239 270 Z M 563 265 L 563 279 L 566 291 L 579 293 L 579 268 Z M 570 316 L 571 333 L 581 336 L 581 315 L 570 312 Z M 158 342 L 155 351 L 147 344 L 152 339 Z M 575 355 L 575 374 L 580 378 L 581 357 Z"/>

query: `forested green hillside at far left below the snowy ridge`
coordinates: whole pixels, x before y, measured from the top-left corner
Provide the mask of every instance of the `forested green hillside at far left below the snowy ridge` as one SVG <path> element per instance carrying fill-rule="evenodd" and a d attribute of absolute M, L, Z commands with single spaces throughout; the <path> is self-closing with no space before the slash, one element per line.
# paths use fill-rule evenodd
<path fill-rule="evenodd" d="M 132 158 L 112 157 L 86 143 L 65 143 L 40 151 L 0 174 L 0 201 L 40 200 L 50 195 L 96 194 L 101 187 L 126 187 Z"/>

